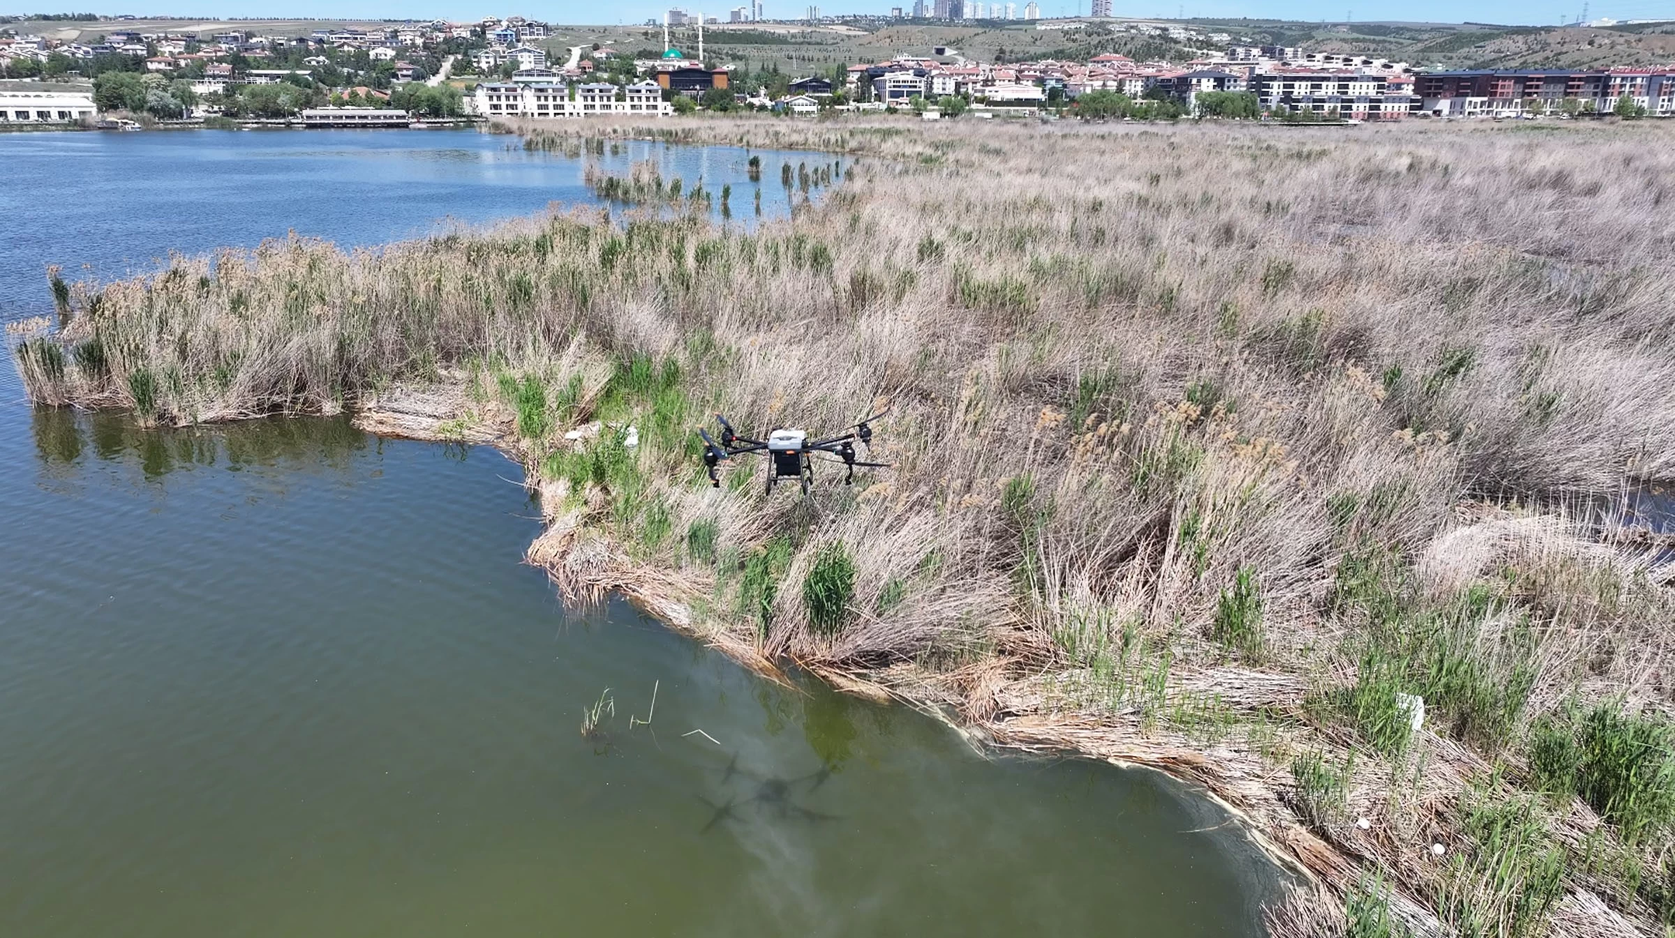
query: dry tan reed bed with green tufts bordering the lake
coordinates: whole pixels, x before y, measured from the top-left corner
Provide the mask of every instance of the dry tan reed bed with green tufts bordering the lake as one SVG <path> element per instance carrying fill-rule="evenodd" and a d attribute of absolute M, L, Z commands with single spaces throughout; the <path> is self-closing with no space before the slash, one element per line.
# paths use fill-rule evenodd
<path fill-rule="evenodd" d="M 1588 499 L 1675 477 L 1675 134 L 745 119 L 526 146 L 581 134 L 824 149 L 843 186 L 749 234 L 578 213 L 178 258 L 70 290 L 20 372 L 159 420 L 446 385 L 419 424 L 502 434 L 571 595 L 1199 781 L 1325 883 L 1276 931 L 1340 903 L 1358 933 L 1658 928 L 1662 816 L 1524 792 L 1554 715 L 1670 709 L 1665 566 Z M 886 402 L 896 467 L 853 489 L 764 497 L 752 464 L 715 491 L 695 461 L 714 409 Z M 804 598 L 834 549 L 838 623 Z"/>

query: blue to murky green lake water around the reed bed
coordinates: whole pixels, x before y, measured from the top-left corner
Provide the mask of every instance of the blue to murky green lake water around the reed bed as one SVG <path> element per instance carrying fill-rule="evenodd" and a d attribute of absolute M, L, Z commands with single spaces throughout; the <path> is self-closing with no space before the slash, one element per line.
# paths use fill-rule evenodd
<path fill-rule="evenodd" d="M 47 263 L 586 201 L 576 162 L 506 142 L 0 136 L 27 168 L 0 310 L 45 312 Z M 1176 784 L 985 759 L 621 603 L 561 606 L 489 449 L 139 430 L 32 410 L 5 368 L 0 466 L 0 935 L 1260 933 L 1273 873 Z"/>

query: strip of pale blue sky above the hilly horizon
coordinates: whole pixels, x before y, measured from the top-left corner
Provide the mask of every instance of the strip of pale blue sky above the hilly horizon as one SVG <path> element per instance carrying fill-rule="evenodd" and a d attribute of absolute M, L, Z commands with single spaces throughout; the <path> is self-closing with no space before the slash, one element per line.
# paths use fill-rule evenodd
<path fill-rule="evenodd" d="M 0 0 L 0 3 L 18 0 Z M 692 0 L 677 0 L 688 10 L 697 10 L 700 5 L 709 15 L 720 15 L 725 18 L 727 10 L 737 5 L 749 5 L 749 0 L 710 0 L 710 3 L 693 3 Z M 911 7 L 911 0 L 854 0 L 853 5 L 838 5 L 836 0 L 827 0 L 821 3 L 821 12 L 824 13 L 844 13 L 844 12 L 874 12 L 886 13 L 896 3 L 903 7 Z M 1018 8 L 1022 10 L 1025 0 L 1018 0 Z M 1044 15 L 1075 15 L 1079 10 L 1087 12 L 1089 0 L 1038 0 Z M 1365 3 L 1363 10 L 1355 10 L 1355 0 L 1265 0 L 1263 3 L 1241 3 L 1236 0 L 1188 0 L 1184 3 L 1184 12 L 1188 17 L 1263 17 L 1263 18 L 1288 18 L 1288 20 L 1333 20 L 1340 22 L 1345 17 L 1353 17 L 1357 20 L 1389 20 L 1392 17 L 1400 17 L 1404 20 L 1430 20 L 1430 22 L 1491 22 L 1491 23 L 1558 23 L 1569 22 L 1581 13 L 1581 0 L 1574 0 L 1574 8 L 1566 7 L 1571 0 L 1548 0 L 1541 3 L 1514 2 L 1514 0 L 1471 0 L 1466 3 L 1451 0 L 1412 0 L 1409 3 L 1400 3 L 1390 7 L 1389 3 Z M 156 7 L 152 7 L 156 3 Z M 178 3 L 178 5 L 176 5 Z M 791 17 L 801 15 L 807 8 L 807 0 L 765 0 L 769 17 Z M 827 5 L 831 3 L 831 5 Z M 1080 5 L 1077 5 L 1080 3 Z M 30 12 L 35 8 L 57 8 L 52 2 L 44 0 L 25 0 Z M 64 8 L 72 7 L 72 3 L 64 3 Z M 80 8 L 80 5 L 74 5 Z M 87 3 L 87 7 L 94 7 Z M 508 7 L 494 0 L 218 0 L 206 3 L 204 0 L 147 0 L 147 10 L 132 10 L 136 13 L 144 12 L 173 12 L 174 15 L 204 15 L 204 17 L 317 17 L 317 18 L 451 18 L 451 20 L 467 20 L 479 18 L 486 15 L 508 15 L 523 13 L 531 18 L 541 18 L 558 23 L 636 23 L 645 22 L 652 17 L 662 17 L 665 8 L 660 3 L 576 3 L 576 2 L 559 2 L 559 3 L 543 3 L 536 7 Z M 1124 3 L 1116 0 L 1112 3 L 1117 15 L 1132 17 L 1174 17 L 1183 10 L 1183 3 L 1176 0 L 1142 0 L 1137 5 Z M 3 8 L 3 7 L 0 7 Z M 22 10 L 18 10 L 22 12 Z M 126 10 L 117 10 L 126 12 Z M 1675 0 L 1591 0 L 1588 5 L 1588 17 L 1615 17 L 1615 18 L 1642 18 L 1642 17 L 1675 17 Z"/>

